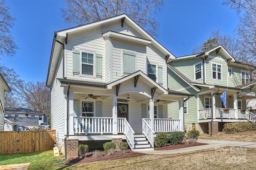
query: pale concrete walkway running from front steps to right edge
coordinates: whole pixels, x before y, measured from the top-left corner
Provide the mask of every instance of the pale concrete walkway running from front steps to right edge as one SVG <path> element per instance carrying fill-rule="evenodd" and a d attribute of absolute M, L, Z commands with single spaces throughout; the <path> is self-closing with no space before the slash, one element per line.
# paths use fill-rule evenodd
<path fill-rule="evenodd" d="M 148 151 L 139 151 L 139 152 L 144 154 L 177 154 L 177 153 L 191 152 L 196 150 L 204 150 L 204 149 L 224 147 L 224 146 L 240 146 L 240 147 L 256 148 L 256 142 L 242 142 L 242 141 L 232 141 L 232 140 L 208 140 L 208 139 L 198 139 L 197 142 L 207 143 L 207 144 L 201 145 L 201 146 L 192 146 L 188 148 L 174 149 L 174 150 L 148 150 Z"/>

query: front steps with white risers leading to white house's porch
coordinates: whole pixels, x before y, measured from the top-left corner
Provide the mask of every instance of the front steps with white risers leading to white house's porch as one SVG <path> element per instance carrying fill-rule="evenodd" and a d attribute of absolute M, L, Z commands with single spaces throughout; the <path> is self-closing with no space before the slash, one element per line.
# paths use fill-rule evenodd
<path fill-rule="evenodd" d="M 134 134 L 134 149 L 133 151 L 144 151 L 144 150 L 154 150 L 154 147 L 151 147 L 150 142 L 144 134 Z"/>

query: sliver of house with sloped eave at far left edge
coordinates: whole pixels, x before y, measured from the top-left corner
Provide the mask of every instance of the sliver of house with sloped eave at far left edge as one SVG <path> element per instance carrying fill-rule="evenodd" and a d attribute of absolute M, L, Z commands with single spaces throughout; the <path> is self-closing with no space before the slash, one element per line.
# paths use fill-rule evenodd
<path fill-rule="evenodd" d="M 11 91 L 11 89 L 0 73 L 0 130 L 4 130 L 4 92 L 6 91 Z"/>

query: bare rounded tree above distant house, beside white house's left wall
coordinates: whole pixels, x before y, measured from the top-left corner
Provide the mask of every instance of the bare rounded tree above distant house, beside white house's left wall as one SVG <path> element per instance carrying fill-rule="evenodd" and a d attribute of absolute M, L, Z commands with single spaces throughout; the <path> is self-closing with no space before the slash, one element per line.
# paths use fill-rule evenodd
<path fill-rule="evenodd" d="M 50 89 L 45 82 L 20 81 L 15 89 L 16 93 L 29 109 L 34 109 L 43 113 L 50 114 Z"/>

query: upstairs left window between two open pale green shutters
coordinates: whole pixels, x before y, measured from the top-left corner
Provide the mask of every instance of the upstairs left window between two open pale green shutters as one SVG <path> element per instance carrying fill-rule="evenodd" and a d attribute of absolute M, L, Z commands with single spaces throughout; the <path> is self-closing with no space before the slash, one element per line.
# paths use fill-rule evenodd
<path fill-rule="evenodd" d="M 94 75 L 94 53 L 81 51 L 81 73 Z"/>

